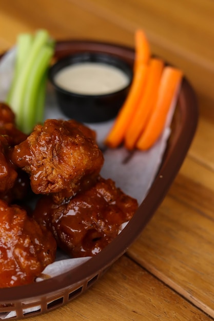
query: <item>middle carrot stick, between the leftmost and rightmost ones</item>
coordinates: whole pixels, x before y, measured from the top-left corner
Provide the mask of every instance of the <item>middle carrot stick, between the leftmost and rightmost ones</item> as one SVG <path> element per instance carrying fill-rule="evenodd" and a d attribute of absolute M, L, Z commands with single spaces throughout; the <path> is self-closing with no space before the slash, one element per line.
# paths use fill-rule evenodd
<path fill-rule="evenodd" d="M 164 63 L 161 59 L 150 59 L 144 94 L 125 135 L 125 147 L 129 150 L 134 148 L 152 113 L 158 96 L 163 67 Z"/>

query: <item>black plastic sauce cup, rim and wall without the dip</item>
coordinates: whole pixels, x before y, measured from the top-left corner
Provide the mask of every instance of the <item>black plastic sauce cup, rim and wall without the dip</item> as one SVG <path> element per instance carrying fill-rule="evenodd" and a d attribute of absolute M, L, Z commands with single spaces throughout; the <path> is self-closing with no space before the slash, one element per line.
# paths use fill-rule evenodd
<path fill-rule="evenodd" d="M 128 76 L 128 84 L 121 90 L 108 94 L 79 94 L 61 88 L 55 82 L 56 74 L 63 68 L 80 63 L 102 63 L 113 66 Z M 130 89 L 132 68 L 122 59 L 104 53 L 77 53 L 59 59 L 49 69 L 49 80 L 56 93 L 59 108 L 69 118 L 83 123 L 99 123 L 108 121 L 118 114 Z"/>

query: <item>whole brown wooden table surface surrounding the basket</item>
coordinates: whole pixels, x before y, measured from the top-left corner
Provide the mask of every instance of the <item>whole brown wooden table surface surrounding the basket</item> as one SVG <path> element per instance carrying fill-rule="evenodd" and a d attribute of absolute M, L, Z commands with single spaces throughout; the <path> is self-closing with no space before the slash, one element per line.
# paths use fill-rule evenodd
<path fill-rule="evenodd" d="M 133 46 L 183 69 L 200 119 L 164 202 L 110 270 L 66 306 L 29 320 L 210 320 L 214 318 L 214 3 L 210 0 L 0 0 L 0 50 L 19 32 Z"/>

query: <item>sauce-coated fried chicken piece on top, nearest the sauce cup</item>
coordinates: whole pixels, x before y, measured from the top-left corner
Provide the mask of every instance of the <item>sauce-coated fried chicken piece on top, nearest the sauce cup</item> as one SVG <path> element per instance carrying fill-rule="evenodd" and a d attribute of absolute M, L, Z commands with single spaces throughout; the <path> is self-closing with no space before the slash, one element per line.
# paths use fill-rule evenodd
<path fill-rule="evenodd" d="M 61 202 L 93 184 L 103 166 L 95 132 L 74 120 L 47 119 L 14 147 L 13 163 L 30 175 L 35 194 Z"/>

